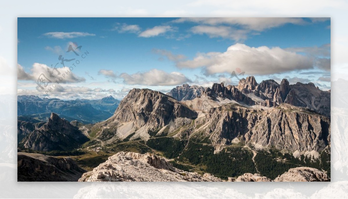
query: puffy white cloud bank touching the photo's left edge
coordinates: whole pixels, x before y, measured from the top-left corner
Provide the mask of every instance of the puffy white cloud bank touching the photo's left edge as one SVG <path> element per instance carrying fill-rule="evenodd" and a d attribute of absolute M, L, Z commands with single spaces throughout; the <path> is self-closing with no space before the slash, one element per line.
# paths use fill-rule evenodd
<path fill-rule="evenodd" d="M 78 77 L 70 71 L 69 67 L 52 68 L 45 64 L 34 63 L 30 71 L 31 73 L 25 72 L 23 67 L 17 64 L 17 79 L 33 80 L 36 82 L 38 81 L 38 78 L 44 78 L 46 79 L 46 82 L 55 82 L 58 78 L 61 78 L 61 81 L 58 81 L 59 83 L 77 83 L 86 81 L 84 77 Z"/>

